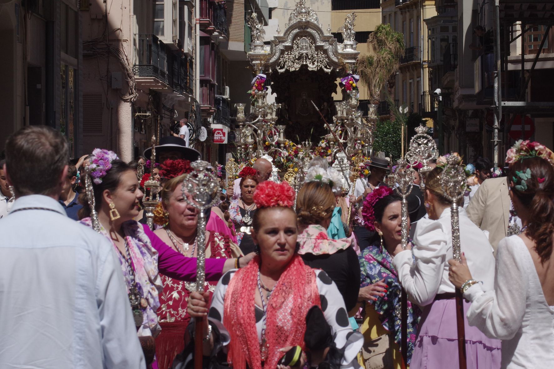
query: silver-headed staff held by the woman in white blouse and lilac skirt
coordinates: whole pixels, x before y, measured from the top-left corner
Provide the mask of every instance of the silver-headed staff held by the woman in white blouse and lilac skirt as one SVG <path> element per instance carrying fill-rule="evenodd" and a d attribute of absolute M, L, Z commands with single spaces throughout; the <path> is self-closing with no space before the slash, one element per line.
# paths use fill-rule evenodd
<path fill-rule="evenodd" d="M 394 189 L 402 196 L 402 213 L 401 213 L 401 245 L 402 249 L 408 247 L 408 195 L 412 192 L 414 181 L 414 170 L 410 168 L 406 160 L 399 160 L 394 172 Z M 404 363 L 408 363 L 408 296 L 406 291 L 402 289 L 401 293 L 401 352 Z"/>

